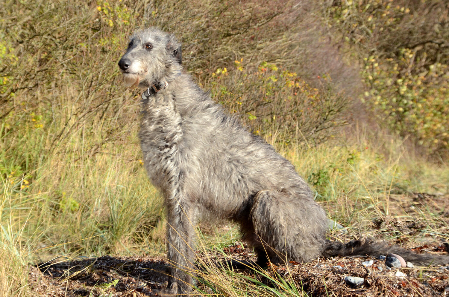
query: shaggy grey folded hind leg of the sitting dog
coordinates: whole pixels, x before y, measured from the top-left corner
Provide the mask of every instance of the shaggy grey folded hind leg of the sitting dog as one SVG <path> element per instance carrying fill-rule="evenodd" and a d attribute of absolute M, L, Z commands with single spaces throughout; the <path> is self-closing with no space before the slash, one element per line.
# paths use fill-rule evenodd
<path fill-rule="evenodd" d="M 286 264 L 321 254 L 326 214 L 313 198 L 285 189 L 261 190 L 254 197 L 251 220 L 259 265 L 266 259 L 264 253 L 270 262 Z"/>

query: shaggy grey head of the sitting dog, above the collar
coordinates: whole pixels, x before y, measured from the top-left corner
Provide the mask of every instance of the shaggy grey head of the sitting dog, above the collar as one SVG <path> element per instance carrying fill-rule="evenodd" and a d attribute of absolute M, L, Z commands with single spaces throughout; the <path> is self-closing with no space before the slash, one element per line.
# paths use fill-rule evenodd
<path fill-rule="evenodd" d="M 181 72 L 181 45 L 174 35 L 155 28 L 137 31 L 119 60 L 126 86 L 148 87 L 161 79 L 171 81 Z"/>

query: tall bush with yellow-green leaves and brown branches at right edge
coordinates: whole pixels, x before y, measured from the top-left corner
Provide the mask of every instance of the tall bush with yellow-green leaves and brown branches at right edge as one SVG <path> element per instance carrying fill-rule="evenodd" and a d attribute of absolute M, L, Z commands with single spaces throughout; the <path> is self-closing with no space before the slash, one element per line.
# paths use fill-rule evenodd
<path fill-rule="evenodd" d="M 329 26 L 361 54 L 364 100 L 386 127 L 429 153 L 449 148 L 449 4 L 334 1 Z"/>

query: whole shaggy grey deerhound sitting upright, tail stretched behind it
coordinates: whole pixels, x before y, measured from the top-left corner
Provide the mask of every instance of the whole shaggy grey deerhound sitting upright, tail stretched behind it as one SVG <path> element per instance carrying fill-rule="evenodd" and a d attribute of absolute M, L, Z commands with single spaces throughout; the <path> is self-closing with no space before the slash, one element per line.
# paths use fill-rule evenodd
<path fill-rule="evenodd" d="M 326 213 L 307 183 L 183 73 L 173 35 L 154 28 L 136 32 L 119 67 L 127 86 L 146 88 L 139 137 L 145 168 L 167 208 L 167 294 L 192 290 L 191 243 L 199 215 L 237 223 L 260 267 L 269 261 L 388 253 L 415 263 L 449 262 L 384 242 L 326 240 Z"/>

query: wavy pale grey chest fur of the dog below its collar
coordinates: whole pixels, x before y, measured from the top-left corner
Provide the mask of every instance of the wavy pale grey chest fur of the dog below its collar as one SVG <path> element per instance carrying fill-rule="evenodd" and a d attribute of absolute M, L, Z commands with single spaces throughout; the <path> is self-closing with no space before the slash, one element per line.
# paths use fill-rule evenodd
<path fill-rule="evenodd" d="M 141 115 L 139 138 L 145 169 L 154 185 L 167 188 L 179 170 L 181 117 L 170 101 L 155 100 L 144 104 Z"/>

